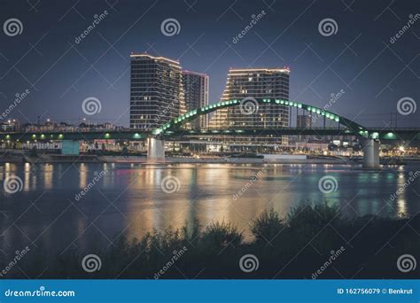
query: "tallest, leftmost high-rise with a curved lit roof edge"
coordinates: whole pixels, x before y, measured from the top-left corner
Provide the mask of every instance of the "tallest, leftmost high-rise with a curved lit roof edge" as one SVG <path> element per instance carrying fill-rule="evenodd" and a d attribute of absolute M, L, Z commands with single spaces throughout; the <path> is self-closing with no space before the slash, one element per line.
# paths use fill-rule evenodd
<path fill-rule="evenodd" d="M 185 113 L 178 61 L 131 54 L 130 128 L 152 130 Z"/>

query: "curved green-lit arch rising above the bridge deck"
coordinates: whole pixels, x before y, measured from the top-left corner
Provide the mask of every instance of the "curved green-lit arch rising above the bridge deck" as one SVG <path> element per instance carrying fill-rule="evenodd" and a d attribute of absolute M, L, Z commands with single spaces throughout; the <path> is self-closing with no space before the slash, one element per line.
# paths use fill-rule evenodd
<path fill-rule="evenodd" d="M 226 107 L 234 107 L 241 105 L 241 102 L 244 102 L 245 100 L 256 102 L 258 105 L 286 105 L 290 107 L 296 107 L 301 108 L 303 110 L 306 110 L 309 113 L 315 113 L 319 114 L 326 119 L 334 120 L 338 122 L 340 125 L 345 126 L 346 128 L 350 128 L 354 131 L 354 133 L 359 134 L 360 136 L 369 136 L 369 131 L 367 128 L 363 127 L 362 125 L 346 119 L 343 116 L 340 116 L 336 113 L 331 113 L 328 111 L 325 111 L 322 108 L 312 106 L 312 105 L 306 105 L 301 102 L 295 102 L 295 101 L 289 101 L 289 100 L 283 100 L 283 99 L 273 99 L 273 98 L 253 98 L 253 97 L 245 97 L 244 99 L 232 99 L 232 100 L 226 100 L 219 103 L 215 103 L 212 105 L 206 105 L 203 107 L 200 107 L 198 109 L 192 110 L 189 113 L 185 113 L 182 116 L 176 117 L 173 120 L 170 120 L 169 122 L 165 123 L 159 128 L 155 128 L 152 131 L 153 135 L 163 135 L 166 132 L 173 131 L 176 128 L 179 128 L 183 124 L 185 124 L 188 121 L 194 120 L 198 118 L 200 115 L 204 115 L 206 113 L 212 113 L 219 109 L 226 108 Z"/>

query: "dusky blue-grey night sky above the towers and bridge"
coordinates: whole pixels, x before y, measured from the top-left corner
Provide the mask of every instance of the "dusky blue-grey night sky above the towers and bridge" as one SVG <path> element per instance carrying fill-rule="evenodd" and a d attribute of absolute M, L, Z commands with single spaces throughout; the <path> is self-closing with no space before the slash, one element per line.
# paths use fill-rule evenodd
<path fill-rule="evenodd" d="M 75 43 L 94 15 L 105 11 L 105 18 Z M 233 43 L 252 15 L 262 11 L 263 17 Z M 385 127 L 402 97 L 414 105 L 420 101 L 416 13 L 420 2 L 414 0 L 0 1 L 0 111 L 29 89 L 7 119 L 76 122 L 87 117 L 128 126 L 129 54 L 147 51 L 208 74 L 211 102 L 219 100 L 229 67 L 289 66 L 292 100 L 323 107 L 343 89 L 331 112 Z M 4 22 L 12 18 L 23 26 L 19 35 L 5 35 Z M 177 35 L 161 32 L 169 18 L 180 24 Z M 408 30 L 392 43 L 410 18 Z M 335 34 L 321 35 L 323 19 L 337 23 Z M 82 112 L 87 97 L 100 100 L 100 113 Z M 397 115 L 398 126 L 419 126 L 420 109 Z"/>

